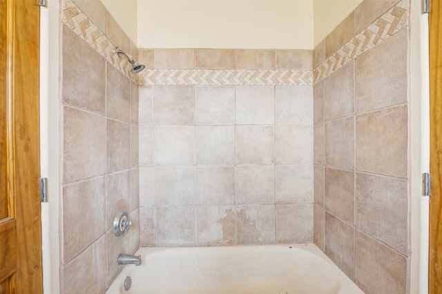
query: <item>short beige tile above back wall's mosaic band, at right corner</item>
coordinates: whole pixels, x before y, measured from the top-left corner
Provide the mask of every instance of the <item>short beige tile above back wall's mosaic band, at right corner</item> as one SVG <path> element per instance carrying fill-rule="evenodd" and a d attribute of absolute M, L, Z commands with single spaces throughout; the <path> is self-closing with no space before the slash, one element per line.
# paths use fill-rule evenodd
<path fill-rule="evenodd" d="M 276 68 L 313 68 L 313 50 L 275 50 Z"/>

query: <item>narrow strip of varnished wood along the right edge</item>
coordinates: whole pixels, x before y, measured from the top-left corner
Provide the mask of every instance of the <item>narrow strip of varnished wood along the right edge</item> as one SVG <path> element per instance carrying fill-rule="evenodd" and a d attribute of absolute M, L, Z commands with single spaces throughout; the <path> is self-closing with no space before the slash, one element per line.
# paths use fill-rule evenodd
<path fill-rule="evenodd" d="M 430 248 L 429 293 L 442 293 L 442 3 L 430 0 Z M 437 266 L 439 264 L 439 266 Z"/>

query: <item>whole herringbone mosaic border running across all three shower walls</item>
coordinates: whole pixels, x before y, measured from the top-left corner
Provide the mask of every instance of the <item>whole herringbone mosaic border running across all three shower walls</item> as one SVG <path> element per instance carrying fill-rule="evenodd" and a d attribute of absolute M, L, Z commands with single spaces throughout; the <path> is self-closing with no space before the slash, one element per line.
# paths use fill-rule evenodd
<path fill-rule="evenodd" d="M 161 70 L 131 74 L 131 64 L 119 58 L 115 45 L 70 0 L 63 1 L 63 23 L 109 63 L 140 85 L 311 85 L 325 79 L 367 50 L 408 25 L 409 0 L 385 12 L 314 70 Z"/>

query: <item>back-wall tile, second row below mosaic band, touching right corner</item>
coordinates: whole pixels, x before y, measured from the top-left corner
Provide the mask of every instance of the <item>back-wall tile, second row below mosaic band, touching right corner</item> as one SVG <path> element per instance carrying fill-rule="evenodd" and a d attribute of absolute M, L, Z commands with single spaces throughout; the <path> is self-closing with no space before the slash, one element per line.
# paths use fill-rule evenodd
<path fill-rule="evenodd" d="M 313 126 L 275 126 L 277 164 L 313 164 Z"/>

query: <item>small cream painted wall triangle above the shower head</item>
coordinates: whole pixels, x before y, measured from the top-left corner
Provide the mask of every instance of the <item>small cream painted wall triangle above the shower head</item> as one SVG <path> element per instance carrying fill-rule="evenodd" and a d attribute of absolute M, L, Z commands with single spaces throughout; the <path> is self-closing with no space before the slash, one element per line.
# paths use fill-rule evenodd
<path fill-rule="evenodd" d="M 137 10 L 140 0 L 101 0 L 108 12 L 110 12 L 122 27 L 129 39 L 137 44 Z"/>

